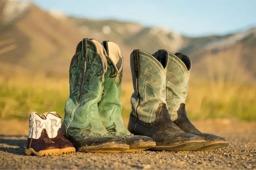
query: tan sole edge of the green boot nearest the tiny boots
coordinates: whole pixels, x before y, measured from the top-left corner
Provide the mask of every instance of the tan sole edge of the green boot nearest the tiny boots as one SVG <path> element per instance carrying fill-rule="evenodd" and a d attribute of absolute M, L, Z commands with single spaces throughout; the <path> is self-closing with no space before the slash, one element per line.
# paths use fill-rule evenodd
<path fill-rule="evenodd" d="M 93 153 L 119 153 L 129 149 L 129 145 L 103 144 L 98 146 L 77 148 L 79 152 L 93 152 Z"/>

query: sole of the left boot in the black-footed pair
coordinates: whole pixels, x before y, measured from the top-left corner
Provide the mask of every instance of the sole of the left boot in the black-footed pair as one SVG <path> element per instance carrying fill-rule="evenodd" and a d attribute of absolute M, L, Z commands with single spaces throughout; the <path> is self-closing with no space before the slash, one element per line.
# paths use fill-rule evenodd
<path fill-rule="evenodd" d="M 151 150 L 155 151 L 194 151 L 196 149 L 199 149 L 203 147 L 205 144 L 205 141 L 188 141 L 184 143 L 180 143 L 177 145 L 171 145 L 171 146 L 155 146 L 151 148 Z"/>

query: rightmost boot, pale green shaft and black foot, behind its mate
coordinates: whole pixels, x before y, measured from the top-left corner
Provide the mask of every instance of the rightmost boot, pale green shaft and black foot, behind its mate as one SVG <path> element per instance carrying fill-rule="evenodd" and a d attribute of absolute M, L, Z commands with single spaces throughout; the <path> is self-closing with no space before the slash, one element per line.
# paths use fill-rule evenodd
<path fill-rule="evenodd" d="M 210 150 L 228 146 L 229 143 L 222 137 L 201 133 L 189 121 L 185 110 L 191 61 L 182 53 L 175 55 L 166 50 L 158 50 L 153 54 L 156 58 L 168 55 L 169 61 L 166 74 L 167 107 L 171 120 L 184 132 L 201 136 L 206 141 L 202 148 L 197 150 Z"/>

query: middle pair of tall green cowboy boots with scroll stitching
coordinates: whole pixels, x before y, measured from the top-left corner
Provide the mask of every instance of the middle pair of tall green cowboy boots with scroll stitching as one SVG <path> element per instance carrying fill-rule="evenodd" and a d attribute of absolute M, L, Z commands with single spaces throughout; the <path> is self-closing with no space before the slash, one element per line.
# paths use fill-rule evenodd
<path fill-rule="evenodd" d="M 152 138 L 131 134 L 123 123 L 120 92 L 123 56 L 119 46 L 84 38 L 69 70 L 70 96 L 61 125 L 77 151 L 135 152 L 154 147 Z"/>

